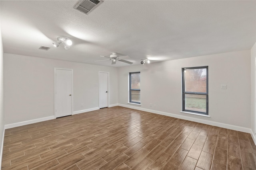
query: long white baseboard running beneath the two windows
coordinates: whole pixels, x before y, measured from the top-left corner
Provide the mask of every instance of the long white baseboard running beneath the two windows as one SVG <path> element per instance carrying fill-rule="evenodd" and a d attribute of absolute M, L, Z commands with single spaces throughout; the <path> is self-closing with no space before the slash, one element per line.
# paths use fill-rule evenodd
<path fill-rule="evenodd" d="M 230 125 L 230 124 L 226 124 L 226 123 L 220 123 L 220 122 L 216 122 L 216 121 L 208 121 L 208 120 L 204 120 L 204 119 L 198 119 L 198 118 L 188 117 L 188 116 L 184 116 L 184 115 L 177 115 L 177 114 L 167 113 L 167 112 L 163 112 L 163 111 L 145 109 L 145 108 L 142 108 L 142 107 L 128 106 L 128 105 L 124 105 L 124 104 L 118 104 L 118 106 L 127 107 L 127 108 L 130 108 L 130 109 L 141 110 L 141 111 L 147 111 L 147 112 L 150 112 L 150 113 L 156 113 L 156 114 L 159 114 L 159 115 L 175 117 L 175 118 L 178 118 L 178 119 L 184 119 L 184 120 L 188 120 L 188 121 L 195 121 L 195 122 L 198 122 L 198 123 L 204 123 L 204 124 L 207 124 L 207 125 L 223 127 L 223 128 L 226 128 L 226 129 L 232 129 L 232 130 L 235 130 L 235 131 L 241 131 L 241 132 L 252 134 L 252 129 L 246 128 L 246 127 L 240 127 L 240 126 Z"/>

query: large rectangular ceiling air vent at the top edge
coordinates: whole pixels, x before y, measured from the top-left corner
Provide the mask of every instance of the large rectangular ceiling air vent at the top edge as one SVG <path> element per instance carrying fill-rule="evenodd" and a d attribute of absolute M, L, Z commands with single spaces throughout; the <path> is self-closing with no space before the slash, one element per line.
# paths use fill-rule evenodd
<path fill-rule="evenodd" d="M 97 8 L 100 4 L 102 4 L 103 0 L 79 0 L 74 9 L 88 15 L 95 8 Z"/>

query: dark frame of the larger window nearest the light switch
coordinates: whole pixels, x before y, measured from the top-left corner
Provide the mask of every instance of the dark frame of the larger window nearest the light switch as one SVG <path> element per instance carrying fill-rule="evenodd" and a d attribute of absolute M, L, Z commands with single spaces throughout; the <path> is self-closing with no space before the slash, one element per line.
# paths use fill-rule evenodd
<path fill-rule="evenodd" d="M 185 91 L 185 75 L 184 75 L 184 70 L 186 69 L 201 69 L 201 68 L 206 68 L 206 92 L 186 92 Z M 198 66 L 198 67 L 185 67 L 182 68 L 182 111 L 190 112 L 190 113 L 198 113 L 202 115 L 209 115 L 209 101 L 208 101 L 208 66 Z M 194 110 L 188 110 L 185 109 L 185 96 L 186 94 L 194 94 L 194 95 L 203 95 L 206 96 L 206 112 L 201 112 L 201 111 L 194 111 Z"/>

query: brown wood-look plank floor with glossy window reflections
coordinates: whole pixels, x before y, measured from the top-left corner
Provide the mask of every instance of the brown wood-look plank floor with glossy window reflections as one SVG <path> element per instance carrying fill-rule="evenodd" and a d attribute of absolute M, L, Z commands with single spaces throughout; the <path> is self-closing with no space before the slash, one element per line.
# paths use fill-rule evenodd
<path fill-rule="evenodd" d="M 251 170 L 248 133 L 110 107 L 5 130 L 3 170 Z"/>

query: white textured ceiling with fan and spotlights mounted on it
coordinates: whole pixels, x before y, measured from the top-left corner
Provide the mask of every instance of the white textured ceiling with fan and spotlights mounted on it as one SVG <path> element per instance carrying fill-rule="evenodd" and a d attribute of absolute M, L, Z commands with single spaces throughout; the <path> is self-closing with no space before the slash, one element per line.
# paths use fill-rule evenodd
<path fill-rule="evenodd" d="M 112 52 L 139 64 L 251 49 L 256 1 L 105 0 L 90 14 L 77 0 L 1 0 L 4 53 L 106 66 L 128 66 L 100 55 Z M 52 45 L 59 35 L 70 49 Z M 40 46 L 50 47 L 48 51 Z"/>

